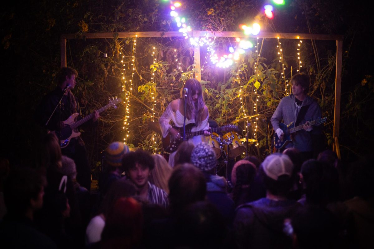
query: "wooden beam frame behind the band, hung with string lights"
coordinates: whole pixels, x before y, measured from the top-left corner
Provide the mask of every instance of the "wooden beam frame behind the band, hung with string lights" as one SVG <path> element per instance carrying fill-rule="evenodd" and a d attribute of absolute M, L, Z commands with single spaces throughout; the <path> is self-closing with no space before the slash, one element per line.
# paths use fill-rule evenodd
<path fill-rule="evenodd" d="M 118 32 L 118 33 L 86 33 L 86 39 L 102 39 L 102 38 L 118 38 L 128 37 L 183 37 L 178 31 L 168 32 Z M 270 33 L 262 32 L 258 35 L 244 35 L 238 31 L 208 32 L 208 31 L 192 31 L 191 37 L 246 37 L 246 38 L 281 38 L 281 39 L 307 39 L 307 40 L 335 40 L 336 41 L 336 70 L 335 70 L 335 108 L 334 108 L 334 146 L 333 149 L 340 159 L 339 149 L 339 124 L 340 124 L 340 95 L 341 95 L 341 63 L 343 59 L 343 36 L 342 35 L 325 35 L 325 34 L 293 34 L 293 33 Z M 60 40 L 61 46 L 61 67 L 66 67 L 66 40 L 77 39 L 76 34 L 62 34 Z M 200 47 L 194 49 L 194 60 L 197 69 L 195 75 L 197 80 L 201 80 L 200 72 Z"/>

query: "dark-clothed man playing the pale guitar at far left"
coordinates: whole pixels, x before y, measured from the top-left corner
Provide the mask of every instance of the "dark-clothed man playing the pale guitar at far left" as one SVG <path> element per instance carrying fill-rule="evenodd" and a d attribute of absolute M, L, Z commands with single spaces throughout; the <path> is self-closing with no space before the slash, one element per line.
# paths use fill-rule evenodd
<path fill-rule="evenodd" d="M 71 114 L 79 113 L 78 119 L 82 118 L 82 112 L 79 102 L 71 90 L 77 84 L 76 77 L 78 73 L 72 68 L 61 68 L 56 76 L 57 87 L 55 90 L 43 97 L 42 102 L 36 110 L 36 120 L 45 127 L 47 120 L 61 99 L 64 90 L 65 94 L 61 100 L 61 108 L 57 107 L 46 128 L 50 131 L 58 131 L 63 126 L 63 121 L 68 119 Z M 91 122 L 95 122 L 99 118 L 99 113 L 95 111 L 95 117 Z M 97 122 L 95 122 L 97 123 Z M 63 155 L 73 159 L 77 167 L 77 181 L 88 191 L 91 187 L 91 165 L 89 164 L 87 151 L 82 138 L 72 138 L 67 147 L 62 148 Z"/>

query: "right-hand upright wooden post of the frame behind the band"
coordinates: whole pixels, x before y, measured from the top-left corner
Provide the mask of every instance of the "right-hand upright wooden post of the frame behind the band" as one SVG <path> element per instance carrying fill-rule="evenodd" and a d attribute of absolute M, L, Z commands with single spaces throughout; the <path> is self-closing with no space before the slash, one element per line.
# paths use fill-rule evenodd
<path fill-rule="evenodd" d="M 336 74 L 335 74 L 335 109 L 334 109 L 334 151 L 340 155 L 339 125 L 340 125 L 340 94 L 341 94 L 341 63 L 343 59 L 343 40 L 336 41 Z"/>

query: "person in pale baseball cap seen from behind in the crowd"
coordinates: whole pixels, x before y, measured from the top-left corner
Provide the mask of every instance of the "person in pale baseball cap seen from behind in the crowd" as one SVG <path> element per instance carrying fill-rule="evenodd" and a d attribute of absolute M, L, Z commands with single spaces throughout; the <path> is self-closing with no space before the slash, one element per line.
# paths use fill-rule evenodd
<path fill-rule="evenodd" d="M 287 199 L 294 182 L 294 165 L 287 155 L 266 157 L 260 172 L 266 186 L 266 198 L 239 206 L 234 230 L 239 248 L 291 248 L 292 241 L 283 234 L 283 220 L 299 207 Z"/>

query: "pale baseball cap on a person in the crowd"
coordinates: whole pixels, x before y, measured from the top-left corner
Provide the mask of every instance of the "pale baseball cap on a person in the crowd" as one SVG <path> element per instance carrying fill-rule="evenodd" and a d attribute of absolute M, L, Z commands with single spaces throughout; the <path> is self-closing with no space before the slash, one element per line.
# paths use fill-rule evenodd
<path fill-rule="evenodd" d="M 276 181 L 278 181 L 281 175 L 291 177 L 294 170 L 294 164 L 292 164 L 291 159 L 281 153 L 274 153 L 267 156 L 261 166 L 265 174 Z"/>

